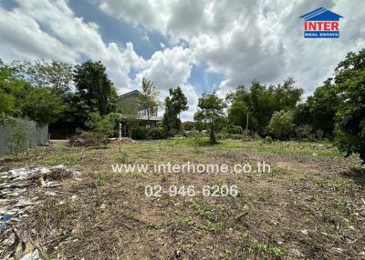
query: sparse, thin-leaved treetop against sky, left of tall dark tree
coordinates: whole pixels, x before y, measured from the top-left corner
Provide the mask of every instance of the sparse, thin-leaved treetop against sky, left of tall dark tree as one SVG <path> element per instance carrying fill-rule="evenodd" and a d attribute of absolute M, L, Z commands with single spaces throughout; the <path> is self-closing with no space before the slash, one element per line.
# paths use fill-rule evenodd
<path fill-rule="evenodd" d="M 35 86 L 52 87 L 62 93 L 67 93 L 73 84 L 73 65 L 68 63 L 41 59 L 34 63 L 15 61 L 11 67 L 17 75 L 26 78 Z"/>

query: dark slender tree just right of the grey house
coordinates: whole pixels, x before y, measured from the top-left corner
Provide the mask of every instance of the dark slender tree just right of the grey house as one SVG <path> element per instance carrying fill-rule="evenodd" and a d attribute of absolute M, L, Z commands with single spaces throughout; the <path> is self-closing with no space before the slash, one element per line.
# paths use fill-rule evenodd
<path fill-rule="evenodd" d="M 189 108 L 187 104 L 188 100 L 179 86 L 173 90 L 170 88 L 170 96 L 165 99 L 165 113 L 162 119 L 162 125 L 169 135 L 174 135 L 181 129 L 182 122 L 179 116 Z"/>

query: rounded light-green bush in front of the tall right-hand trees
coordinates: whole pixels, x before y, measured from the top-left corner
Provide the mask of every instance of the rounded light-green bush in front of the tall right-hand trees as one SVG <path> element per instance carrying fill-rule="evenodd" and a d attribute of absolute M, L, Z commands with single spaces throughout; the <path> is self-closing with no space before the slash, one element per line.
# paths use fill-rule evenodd
<path fill-rule="evenodd" d="M 293 113 L 281 110 L 275 112 L 271 117 L 267 130 L 278 139 L 287 139 L 293 132 Z"/>

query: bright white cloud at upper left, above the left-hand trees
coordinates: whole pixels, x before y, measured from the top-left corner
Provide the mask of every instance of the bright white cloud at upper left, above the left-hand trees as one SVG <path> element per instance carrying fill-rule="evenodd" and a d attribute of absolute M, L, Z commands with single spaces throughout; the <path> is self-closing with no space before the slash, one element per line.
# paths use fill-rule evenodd
<path fill-rule="evenodd" d="M 120 48 L 106 44 L 99 25 L 75 17 L 65 0 L 17 0 L 13 11 L 0 9 L 0 51 L 5 61 L 49 58 L 76 63 L 81 56 L 100 60 L 120 92 L 131 90 L 130 68 L 141 69 L 145 61 L 127 43 Z M 8 26 L 8 25 L 12 26 Z"/>

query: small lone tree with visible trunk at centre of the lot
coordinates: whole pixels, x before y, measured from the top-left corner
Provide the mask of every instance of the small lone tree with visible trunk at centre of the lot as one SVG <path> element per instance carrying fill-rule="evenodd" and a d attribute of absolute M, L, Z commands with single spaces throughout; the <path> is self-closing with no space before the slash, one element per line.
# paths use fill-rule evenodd
<path fill-rule="evenodd" d="M 215 92 L 203 93 L 198 101 L 198 111 L 194 115 L 194 120 L 209 128 L 209 140 L 213 145 L 216 144 L 215 132 L 224 119 L 225 107 L 224 100 L 219 98 Z"/>

